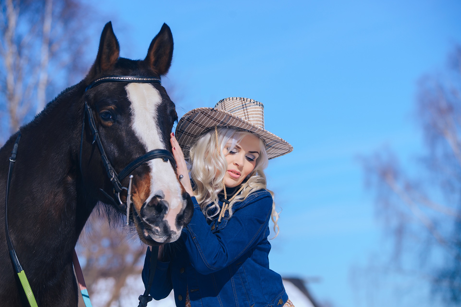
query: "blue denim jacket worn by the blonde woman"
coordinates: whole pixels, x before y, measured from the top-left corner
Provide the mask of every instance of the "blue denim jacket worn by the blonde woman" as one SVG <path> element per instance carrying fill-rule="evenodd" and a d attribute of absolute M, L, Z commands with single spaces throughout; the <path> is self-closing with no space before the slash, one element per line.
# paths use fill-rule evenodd
<path fill-rule="evenodd" d="M 255 191 L 226 211 L 221 222 L 207 220 L 195 197 L 194 215 L 181 237 L 165 244 L 164 261 L 157 262 L 150 295 L 155 300 L 174 290 L 176 306 L 184 307 L 189 291 L 191 307 L 282 307 L 288 300 L 281 276 L 269 269 L 269 220 L 272 196 Z M 219 206 L 222 207 L 219 200 Z M 142 270 L 144 284 L 150 271 L 150 249 Z"/>

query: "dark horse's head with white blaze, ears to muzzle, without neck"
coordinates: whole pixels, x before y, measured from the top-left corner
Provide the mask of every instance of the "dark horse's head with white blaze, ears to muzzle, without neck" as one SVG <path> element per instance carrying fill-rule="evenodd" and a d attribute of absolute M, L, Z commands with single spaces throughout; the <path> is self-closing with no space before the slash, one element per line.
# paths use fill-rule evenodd
<path fill-rule="evenodd" d="M 88 85 L 108 75 L 160 78 L 168 72 L 172 54 L 171 30 L 164 24 L 152 40 L 144 60 L 119 58 L 117 38 L 112 24 L 107 23 L 95 63 L 84 82 Z M 170 133 L 177 114 L 175 104 L 160 83 L 103 83 L 89 89 L 84 98 L 92 110 L 104 151 L 116 172 L 148 151 L 171 151 Z M 86 129 L 85 146 L 91 153 L 84 168 L 93 168 L 90 173 L 105 173 L 98 149 L 90 145 L 92 138 Z M 192 216 L 193 204 L 179 183 L 176 170 L 170 162 L 154 159 L 130 174 L 133 175 L 132 215 L 141 240 L 150 245 L 177 240 Z M 86 176 L 91 178 L 91 174 Z M 95 175 L 90 179 L 95 188 L 102 187 L 98 180 L 100 176 L 95 178 Z M 104 178 L 103 189 L 112 195 L 113 186 L 109 180 Z M 128 180 L 125 178 L 122 185 L 128 186 Z M 98 198 L 107 203 L 103 195 L 99 194 Z"/>

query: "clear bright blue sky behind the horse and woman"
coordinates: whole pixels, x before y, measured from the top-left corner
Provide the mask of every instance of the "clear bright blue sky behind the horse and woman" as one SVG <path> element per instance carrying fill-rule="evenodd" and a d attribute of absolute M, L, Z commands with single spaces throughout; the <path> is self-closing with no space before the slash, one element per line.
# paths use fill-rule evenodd
<path fill-rule="evenodd" d="M 283 208 L 281 234 L 272 241 L 272 269 L 321 277 L 310 284 L 320 301 L 370 306 L 357 301 L 349 272 L 381 250 L 382 229 L 355 157 L 384 144 L 402 156 L 420 148 L 411 116 L 416 82 L 442 67 L 461 42 L 460 2 L 91 5 L 100 12 L 100 29 L 112 20 L 127 58 L 144 58 L 162 23 L 171 27 L 175 49 L 164 83 L 183 108 L 179 115 L 230 96 L 265 104 L 266 128 L 295 148 L 267 170 Z M 88 47 L 95 53 L 97 40 Z M 413 306 L 396 295 L 373 306 Z"/>

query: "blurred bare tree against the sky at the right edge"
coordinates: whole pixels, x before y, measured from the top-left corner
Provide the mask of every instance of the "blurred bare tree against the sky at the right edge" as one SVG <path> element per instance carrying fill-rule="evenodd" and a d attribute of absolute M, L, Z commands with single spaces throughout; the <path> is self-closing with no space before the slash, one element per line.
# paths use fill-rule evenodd
<path fill-rule="evenodd" d="M 461 304 L 461 47 L 443 74 L 421 79 L 416 118 L 424 154 L 406 170 L 390 151 L 363 159 L 376 213 L 393 243 L 386 266 L 426 280 L 446 305 Z M 414 173 L 412 176 L 407 174 Z"/>

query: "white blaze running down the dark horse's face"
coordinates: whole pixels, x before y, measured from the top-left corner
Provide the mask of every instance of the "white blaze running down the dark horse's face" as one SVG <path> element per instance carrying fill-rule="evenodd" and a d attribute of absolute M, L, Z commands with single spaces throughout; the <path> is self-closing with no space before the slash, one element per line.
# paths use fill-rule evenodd
<path fill-rule="evenodd" d="M 146 147 L 146 151 L 166 149 L 157 124 L 157 108 L 162 102 L 159 91 L 148 83 L 128 83 L 125 89 L 131 102 L 131 126 L 136 136 Z M 185 205 L 181 195 L 181 186 L 176 179 L 176 174 L 170 162 L 154 159 L 149 162 L 149 165 L 151 169 L 150 195 L 145 202 L 149 202 L 155 195 L 165 195 L 164 199 L 169 203 L 169 208 L 164 220 L 168 222 L 173 232 L 171 234 L 172 239 L 177 239 L 181 229 L 176 228 L 176 216 Z M 157 225 L 150 226 L 156 232 L 160 231 Z M 162 237 L 162 235 L 169 236 L 170 234 L 160 234 L 160 237 L 151 235 L 151 237 L 157 242 L 163 242 L 162 240 L 165 240 L 165 237 Z"/>

